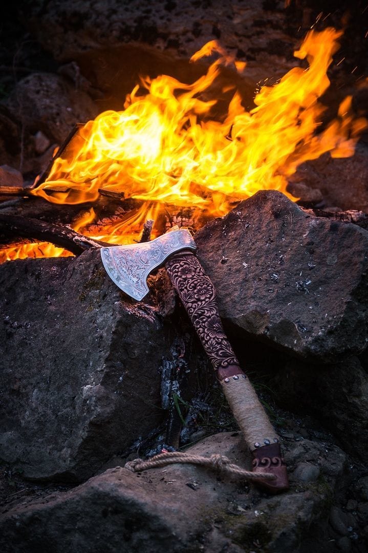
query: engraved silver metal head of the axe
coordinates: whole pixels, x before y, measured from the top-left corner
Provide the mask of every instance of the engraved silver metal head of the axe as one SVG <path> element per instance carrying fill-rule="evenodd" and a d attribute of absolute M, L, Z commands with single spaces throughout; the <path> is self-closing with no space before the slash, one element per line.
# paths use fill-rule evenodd
<path fill-rule="evenodd" d="M 196 251 L 196 243 L 186 228 L 167 232 L 151 242 L 101 248 L 104 268 L 125 294 L 142 300 L 148 294 L 147 277 L 164 265 L 166 259 L 182 249 Z"/>

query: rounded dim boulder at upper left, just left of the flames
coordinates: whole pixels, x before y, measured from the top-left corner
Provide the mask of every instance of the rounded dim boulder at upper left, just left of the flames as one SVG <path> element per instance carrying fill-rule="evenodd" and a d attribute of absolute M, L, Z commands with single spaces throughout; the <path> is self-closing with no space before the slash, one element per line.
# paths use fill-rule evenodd
<path fill-rule="evenodd" d="M 86 123 L 98 113 L 86 92 L 51 73 L 24 77 L 10 94 L 7 106 L 29 132 L 41 131 L 58 144 L 76 123 Z"/>

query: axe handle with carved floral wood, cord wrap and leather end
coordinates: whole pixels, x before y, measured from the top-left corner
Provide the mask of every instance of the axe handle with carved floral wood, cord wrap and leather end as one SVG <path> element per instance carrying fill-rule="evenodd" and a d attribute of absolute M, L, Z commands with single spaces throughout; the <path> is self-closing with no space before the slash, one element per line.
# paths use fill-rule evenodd
<path fill-rule="evenodd" d="M 278 436 L 253 386 L 241 371 L 239 361 L 225 335 L 212 281 L 204 273 L 196 255 L 187 250 L 171 255 L 166 260 L 165 268 L 190 316 L 204 351 L 211 359 L 234 417 L 253 452 L 254 471 L 272 472 L 274 468 L 276 481 L 265 481 L 264 487 L 274 493 L 287 489 L 286 467 L 281 458 Z"/>

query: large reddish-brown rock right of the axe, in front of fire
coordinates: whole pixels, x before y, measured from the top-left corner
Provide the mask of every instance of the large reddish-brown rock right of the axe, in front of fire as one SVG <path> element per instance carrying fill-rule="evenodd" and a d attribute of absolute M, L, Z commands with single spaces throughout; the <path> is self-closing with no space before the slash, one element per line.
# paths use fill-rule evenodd
<path fill-rule="evenodd" d="M 277 191 L 257 192 L 195 236 L 234 335 L 325 363 L 365 348 L 367 238 Z"/>

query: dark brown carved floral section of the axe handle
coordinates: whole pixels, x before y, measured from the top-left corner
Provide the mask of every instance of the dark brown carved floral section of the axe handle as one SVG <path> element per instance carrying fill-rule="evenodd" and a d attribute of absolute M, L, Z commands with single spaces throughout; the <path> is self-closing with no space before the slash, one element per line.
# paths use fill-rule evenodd
<path fill-rule="evenodd" d="M 213 368 L 239 366 L 222 327 L 215 288 L 197 257 L 191 252 L 176 253 L 166 261 L 165 268 Z"/>

